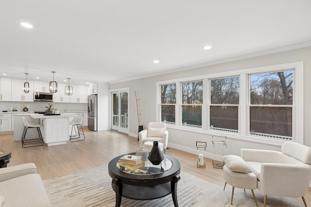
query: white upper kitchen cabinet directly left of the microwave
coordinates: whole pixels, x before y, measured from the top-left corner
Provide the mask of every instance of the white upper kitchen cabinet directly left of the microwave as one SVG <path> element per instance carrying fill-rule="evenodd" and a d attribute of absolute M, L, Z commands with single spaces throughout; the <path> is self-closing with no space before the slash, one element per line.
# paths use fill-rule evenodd
<path fill-rule="evenodd" d="M 12 101 L 34 101 L 34 81 L 29 82 L 29 93 L 24 92 L 25 80 L 12 79 Z"/>

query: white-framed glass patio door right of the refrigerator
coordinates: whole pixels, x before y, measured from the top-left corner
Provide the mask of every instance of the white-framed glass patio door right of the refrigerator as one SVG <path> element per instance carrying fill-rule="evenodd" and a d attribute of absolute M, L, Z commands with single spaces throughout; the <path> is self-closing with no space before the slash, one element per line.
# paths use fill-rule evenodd
<path fill-rule="evenodd" d="M 128 91 L 112 92 L 111 99 L 111 128 L 128 134 Z"/>

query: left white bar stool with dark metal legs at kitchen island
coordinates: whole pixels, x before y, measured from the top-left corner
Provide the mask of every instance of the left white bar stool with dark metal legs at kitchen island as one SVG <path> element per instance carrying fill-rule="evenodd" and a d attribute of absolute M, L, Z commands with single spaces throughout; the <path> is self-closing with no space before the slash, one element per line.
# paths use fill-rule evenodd
<path fill-rule="evenodd" d="M 41 130 L 40 130 L 41 125 L 40 124 L 28 123 L 27 119 L 24 116 L 22 117 L 22 120 L 23 120 L 23 123 L 25 126 L 23 134 L 21 135 L 22 147 L 26 148 L 26 147 L 31 147 L 31 146 L 42 146 L 44 144 L 44 142 L 43 142 L 43 138 L 42 138 L 42 134 L 41 134 Z M 39 138 L 25 140 L 28 128 L 37 128 Z"/>

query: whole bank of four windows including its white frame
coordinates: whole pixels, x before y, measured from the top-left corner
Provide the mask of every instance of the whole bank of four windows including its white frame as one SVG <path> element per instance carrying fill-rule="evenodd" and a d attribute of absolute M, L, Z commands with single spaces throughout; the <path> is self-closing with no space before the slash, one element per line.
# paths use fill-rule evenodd
<path fill-rule="evenodd" d="M 157 82 L 157 121 L 251 142 L 303 143 L 303 62 Z"/>

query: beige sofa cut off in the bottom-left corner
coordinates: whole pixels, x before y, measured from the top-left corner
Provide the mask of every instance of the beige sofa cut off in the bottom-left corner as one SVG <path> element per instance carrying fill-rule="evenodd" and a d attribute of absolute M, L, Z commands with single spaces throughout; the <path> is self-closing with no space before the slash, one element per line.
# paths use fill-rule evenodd
<path fill-rule="evenodd" d="M 52 207 L 34 163 L 0 168 L 0 207 Z"/>

